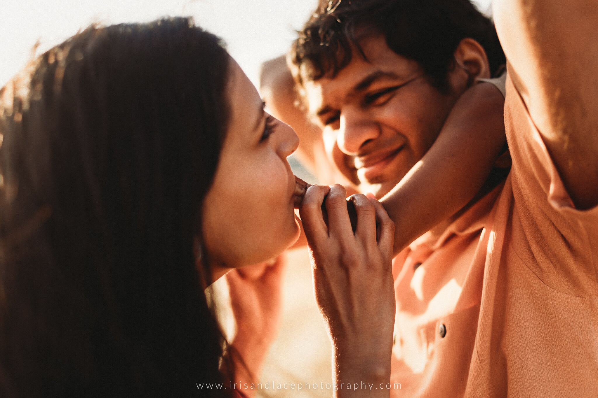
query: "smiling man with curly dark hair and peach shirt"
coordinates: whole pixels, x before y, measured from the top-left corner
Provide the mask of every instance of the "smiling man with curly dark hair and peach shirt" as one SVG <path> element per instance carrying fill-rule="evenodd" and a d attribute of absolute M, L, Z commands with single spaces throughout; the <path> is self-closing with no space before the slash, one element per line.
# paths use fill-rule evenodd
<path fill-rule="evenodd" d="M 376 195 L 400 235 L 392 190 L 463 92 L 501 75 L 502 44 L 509 150 L 460 211 L 411 244 L 395 237 L 392 373 L 374 370 L 397 397 L 598 396 L 598 7 L 494 11 L 498 36 L 468 0 L 322 1 L 292 77 L 270 61 L 262 91 L 321 181 Z"/>

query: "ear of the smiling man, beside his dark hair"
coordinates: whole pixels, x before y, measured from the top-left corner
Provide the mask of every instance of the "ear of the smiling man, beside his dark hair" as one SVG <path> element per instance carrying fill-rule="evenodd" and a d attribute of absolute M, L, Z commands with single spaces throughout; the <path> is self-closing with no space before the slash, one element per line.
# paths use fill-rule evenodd
<path fill-rule="evenodd" d="M 466 76 L 465 76 L 466 75 Z M 454 51 L 454 67 L 449 71 L 449 79 L 453 84 L 462 84 L 462 78 L 466 77 L 466 87 L 471 87 L 475 79 L 490 78 L 490 64 L 484 48 L 471 38 L 465 38 L 459 42 Z M 453 85 L 454 87 L 454 85 Z"/>

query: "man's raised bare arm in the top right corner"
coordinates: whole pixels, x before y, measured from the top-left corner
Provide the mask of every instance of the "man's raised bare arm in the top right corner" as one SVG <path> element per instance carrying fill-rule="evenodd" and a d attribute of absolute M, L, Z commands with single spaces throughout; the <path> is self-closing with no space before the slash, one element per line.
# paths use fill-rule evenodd
<path fill-rule="evenodd" d="M 497 0 L 509 72 L 578 208 L 598 204 L 598 2 Z"/>

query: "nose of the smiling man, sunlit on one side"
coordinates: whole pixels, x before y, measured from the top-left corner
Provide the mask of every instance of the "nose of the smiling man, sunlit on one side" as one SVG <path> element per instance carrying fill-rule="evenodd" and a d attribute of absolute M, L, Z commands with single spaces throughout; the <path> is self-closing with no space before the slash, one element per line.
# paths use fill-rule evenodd
<path fill-rule="evenodd" d="M 341 110 L 337 144 L 346 155 L 358 155 L 365 144 L 380 135 L 380 128 L 358 107 Z"/>

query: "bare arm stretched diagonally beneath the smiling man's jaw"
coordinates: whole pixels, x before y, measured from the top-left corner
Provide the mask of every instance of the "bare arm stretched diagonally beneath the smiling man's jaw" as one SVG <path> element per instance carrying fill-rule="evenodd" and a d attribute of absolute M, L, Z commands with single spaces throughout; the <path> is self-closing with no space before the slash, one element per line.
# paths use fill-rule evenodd
<path fill-rule="evenodd" d="M 464 92 L 426 155 L 380 200 L 395 222 L 393 255 L 481 189 L 506 142 L 504 100 L 489 83 Z"/>

